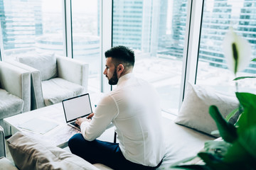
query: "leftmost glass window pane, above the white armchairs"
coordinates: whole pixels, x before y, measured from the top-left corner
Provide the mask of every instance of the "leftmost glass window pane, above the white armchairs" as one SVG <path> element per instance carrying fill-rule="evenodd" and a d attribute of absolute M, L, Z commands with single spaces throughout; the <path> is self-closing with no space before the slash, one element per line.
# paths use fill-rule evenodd
<path fill-rule="evenodd" d="M 4 57 L 34 52 L 63 55 L 61 0 L 1 0 Z"/>

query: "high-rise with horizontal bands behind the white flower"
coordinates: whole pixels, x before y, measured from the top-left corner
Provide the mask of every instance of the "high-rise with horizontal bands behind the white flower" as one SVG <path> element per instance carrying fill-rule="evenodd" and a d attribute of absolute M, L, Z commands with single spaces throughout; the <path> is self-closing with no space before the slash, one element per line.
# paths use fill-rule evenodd
<path fill-rule="evenodd" d="M 237 4 L 234 6 L 234 4 Z M 245 37 L 256 52 L 256 1 L 214 0 L 213 6 L 204 6 L 199 57 L 211 66 L 227 68 L 223 55 L 223 39 L 230 26 Z M 255 56 L 255 55 L 254 55 Z M 256 73 L 256 64 L 250 64 L 245 72 Z"/>

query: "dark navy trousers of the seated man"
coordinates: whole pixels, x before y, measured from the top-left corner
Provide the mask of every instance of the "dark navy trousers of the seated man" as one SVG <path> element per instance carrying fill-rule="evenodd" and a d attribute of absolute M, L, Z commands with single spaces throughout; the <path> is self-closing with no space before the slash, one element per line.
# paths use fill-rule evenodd
<path fill-rule="evenodd" d="M 105 164 L 112 169 L 156 169 L 161 164 L 151 167 L 130 162 L 124 158 L 118 143 L 102 142 L 100 140 L 90 142 L 85 140 L 80 133 L 70 138 L 68 147 L 70 147 L 73 154 L 82 157 L 87 162 Z"/>

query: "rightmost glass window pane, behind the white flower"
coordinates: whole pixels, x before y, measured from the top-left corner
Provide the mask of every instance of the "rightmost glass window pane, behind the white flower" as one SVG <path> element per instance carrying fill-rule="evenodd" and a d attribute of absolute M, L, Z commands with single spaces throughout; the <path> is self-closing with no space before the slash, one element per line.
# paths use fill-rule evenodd
<path fill-rule="evenodd" d="M 256 56 L 256 1 L 204 1 L 203 23 L 196 83 L 211 86 L 218 91 L 233 94 L 234 74 L 227 68 L 223 56 L 223 39 L 230 26 L 238 35 L 246 38 Z M 256 62 L 237 74 L 252 76 L 256 73 Z M 255 79 L 238 81 L 239 91 L 256 92 Z"/>

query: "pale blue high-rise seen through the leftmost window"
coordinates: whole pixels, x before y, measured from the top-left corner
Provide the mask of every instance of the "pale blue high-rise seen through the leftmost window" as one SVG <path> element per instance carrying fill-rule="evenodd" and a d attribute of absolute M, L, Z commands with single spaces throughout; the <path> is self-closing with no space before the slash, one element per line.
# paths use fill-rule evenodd
<path fill-rule="evenodd" d="M 4 50 L 35 45 L 36 36 L 43 34 L 41 3 L 41 0 L 0 0 Z"/>

